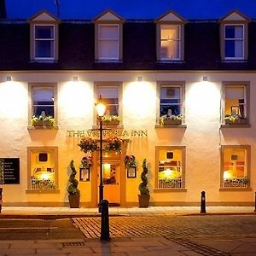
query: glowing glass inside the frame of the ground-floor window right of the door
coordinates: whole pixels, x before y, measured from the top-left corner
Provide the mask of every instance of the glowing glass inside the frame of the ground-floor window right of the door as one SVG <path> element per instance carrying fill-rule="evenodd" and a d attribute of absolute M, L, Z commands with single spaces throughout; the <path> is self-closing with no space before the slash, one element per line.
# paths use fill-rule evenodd
<path fill-rule="evenodd" d="M 159 151 L 159 166 L 158 166 L 158 188 L 182 188 L 182 149 Z"/>

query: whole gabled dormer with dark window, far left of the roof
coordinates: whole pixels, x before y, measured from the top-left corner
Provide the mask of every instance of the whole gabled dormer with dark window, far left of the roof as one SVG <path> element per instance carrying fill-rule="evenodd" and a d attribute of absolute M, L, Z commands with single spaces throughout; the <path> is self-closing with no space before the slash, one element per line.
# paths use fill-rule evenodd
<path fill-rule="evenodd" d="M 57 61 L 60 20 L 44 11 L 33 16 L 29 23 L 31 61 Z"/>

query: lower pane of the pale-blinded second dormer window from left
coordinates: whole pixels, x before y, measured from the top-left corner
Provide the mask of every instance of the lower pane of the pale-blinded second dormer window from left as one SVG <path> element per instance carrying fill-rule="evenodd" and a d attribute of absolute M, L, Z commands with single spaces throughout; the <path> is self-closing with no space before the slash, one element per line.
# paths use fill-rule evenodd
<path fill-rule="evenodd" d="M 118 41 L 100 41 L 99 58 L 118 59 Z"/>

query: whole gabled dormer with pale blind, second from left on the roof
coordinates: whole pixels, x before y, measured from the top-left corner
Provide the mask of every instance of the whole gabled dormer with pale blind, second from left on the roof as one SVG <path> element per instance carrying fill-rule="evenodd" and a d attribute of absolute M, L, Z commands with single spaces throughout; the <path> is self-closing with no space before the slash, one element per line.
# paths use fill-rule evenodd
<path fill-rule="evenodd" d="M 95 23 L 96 61 L 122 61 L 123 18 L 106 11 L 93 20 Z"/>

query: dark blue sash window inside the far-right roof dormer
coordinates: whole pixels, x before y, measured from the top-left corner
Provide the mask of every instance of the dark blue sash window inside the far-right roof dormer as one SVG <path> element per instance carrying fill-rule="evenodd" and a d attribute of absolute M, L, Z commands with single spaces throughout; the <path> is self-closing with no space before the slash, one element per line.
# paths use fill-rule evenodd
<path fill-rule="evenodd" d="M 244 59 L 244 25 L 224 26 L 225 59 Z"/>

